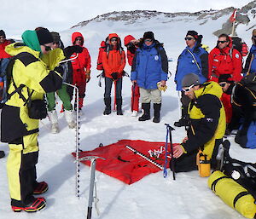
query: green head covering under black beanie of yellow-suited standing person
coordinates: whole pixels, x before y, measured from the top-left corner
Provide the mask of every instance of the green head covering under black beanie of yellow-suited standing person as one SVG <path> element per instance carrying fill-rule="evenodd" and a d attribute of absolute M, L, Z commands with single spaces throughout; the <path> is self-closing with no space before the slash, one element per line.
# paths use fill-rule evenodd
<path fill-rule="evenodd" d="M 26 46 L 28 46 L 30 49 L 41 52 L 41 46 L 36 31 L 28 30 L 23 32 L 21 37 Z"/>

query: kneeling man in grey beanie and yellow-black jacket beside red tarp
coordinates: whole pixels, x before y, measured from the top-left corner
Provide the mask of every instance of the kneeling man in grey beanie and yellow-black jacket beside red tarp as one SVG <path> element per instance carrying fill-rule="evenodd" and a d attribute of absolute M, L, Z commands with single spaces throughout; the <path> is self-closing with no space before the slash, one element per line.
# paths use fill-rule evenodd
<path fill-rule="evenodd" d="M 182 86 L 184 95 L 191 100 L 189 127 L 183 143 L 174 147 L 175 171 L 197 170 L 196 154 L 199 150 L 212 158 L 214 167 L 226 128 L 224 107 L 220 101 L 222 89 L 216 82 L 200 84 L 200 78 L 194 73 L 183 77 Z"/>

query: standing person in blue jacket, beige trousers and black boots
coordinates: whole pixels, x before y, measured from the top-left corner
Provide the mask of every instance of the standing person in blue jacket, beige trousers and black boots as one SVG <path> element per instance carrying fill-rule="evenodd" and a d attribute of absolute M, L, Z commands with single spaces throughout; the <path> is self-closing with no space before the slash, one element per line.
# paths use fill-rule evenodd
<path fill-rule="evenodd" d="M 150 119 L 150 101 L 154 103 L 154 123 L 160 123 L 161 91 L 166 87 L 168 59 L 163 44 L 154 39 L 153 32 L 145 32 L 136 51 L 131 67 L 131 82 L 138 85 L 142 98 L 143 116 L 139 121 Z"/>

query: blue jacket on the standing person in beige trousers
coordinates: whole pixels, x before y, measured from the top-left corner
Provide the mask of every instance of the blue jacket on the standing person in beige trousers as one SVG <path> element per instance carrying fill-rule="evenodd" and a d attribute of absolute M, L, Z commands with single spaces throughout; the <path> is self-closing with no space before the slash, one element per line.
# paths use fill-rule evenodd
<path fill-rule="evenodd" d="M 131 80 L 143 89 L 157 89 L 157 83 L 166 81 L 168 59 L 162 45 L 155 41 L 150 46 L 145 43 L 137 49 L 131 67 Z"/>

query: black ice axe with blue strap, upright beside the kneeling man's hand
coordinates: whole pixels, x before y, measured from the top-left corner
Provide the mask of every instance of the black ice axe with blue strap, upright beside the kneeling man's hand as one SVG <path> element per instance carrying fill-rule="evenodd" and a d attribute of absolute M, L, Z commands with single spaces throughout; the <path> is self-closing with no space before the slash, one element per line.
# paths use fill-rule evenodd
<path fill-rule="evenodd" d="M 172 145 L 172 130 L 174 130 L 172 128 L 172 126 L 170 124 L 165 124 L 166 125 L 166 157 L 165 157 L 165 167 L 164 167 L 164 177 L 166 178 L 167 176 L 167 170 L 166 170 L 166 166 L 167 166 L 167 156 L 168 156 L 168 136 L 170 138 L 170 154 L 171 154 L 171 168 L 172 168 L 172 177 L 173 180 L 175 180 L 175 166 L 174 166 L 174 162 L 175 162 L 175 158 L 173 158 L 173 145 Z"/>

